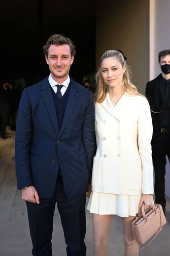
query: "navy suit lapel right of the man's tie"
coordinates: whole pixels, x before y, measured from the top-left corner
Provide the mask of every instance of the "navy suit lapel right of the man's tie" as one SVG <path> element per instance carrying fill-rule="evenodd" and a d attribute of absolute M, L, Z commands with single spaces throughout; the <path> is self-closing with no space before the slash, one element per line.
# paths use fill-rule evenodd
<path fill-rule="evenodd" d="M 77 103 L 77 100 L 79 98 L 79 88 L 78 85 L 74 82 L 73 79 L 71 79 L 71 88 L 70 88 L 70 93 L 69 93 L 69 97 L 67 100 L 67 104 L 66 104 L 66 108 L 65 108 L 65 113 L 64 113 L 64 117 L 62 120 L 62 124 L 61 124 L 61 129 L 59 131 L 59 135 L 58 137 L 62 134 L 64 127 L 67 123 L 67 121 L 69 120 L 73 109 Z"/>

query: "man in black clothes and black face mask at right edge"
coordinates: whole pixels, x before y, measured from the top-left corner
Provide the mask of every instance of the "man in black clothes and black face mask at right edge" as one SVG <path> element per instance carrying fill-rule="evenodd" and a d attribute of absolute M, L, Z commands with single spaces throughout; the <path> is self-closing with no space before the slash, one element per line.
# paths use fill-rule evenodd
<path fill-rule="evenodd" d="M 155 200 L 165 212 L 165 165 L 170 160 L 170 51 L 159 53 L 162 73 L 147 83 L 146 96 L 149 100 L 152 122 L 152 158 L 155 170 Z"/>

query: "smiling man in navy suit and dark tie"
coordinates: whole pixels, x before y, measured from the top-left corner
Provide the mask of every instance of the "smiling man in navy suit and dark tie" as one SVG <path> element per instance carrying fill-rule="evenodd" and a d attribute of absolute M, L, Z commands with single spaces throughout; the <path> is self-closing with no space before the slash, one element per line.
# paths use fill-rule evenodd
<path fill-rule="evenodd" d="M 18 189 L 26 200 L 32 255 L 51 256 L 55 203 L 69 256 L 86 255 L 85 202 L 95 151 L 92 93 L 69 76 L 71 39 L 51 36 L 43 47 L 48 78 L 24 89 L 15 158 Z"/>

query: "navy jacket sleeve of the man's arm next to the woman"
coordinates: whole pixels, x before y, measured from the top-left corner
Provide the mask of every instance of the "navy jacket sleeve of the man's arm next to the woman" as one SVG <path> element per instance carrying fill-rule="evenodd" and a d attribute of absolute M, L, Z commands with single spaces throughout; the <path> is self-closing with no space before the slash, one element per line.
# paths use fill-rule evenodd
<path fill-rule="evenodd" d="M 87 155 L 87 164 L 89 171 L 89 184 L 91 184 L 93 157 L 96 151 L 95 132 L 94 132 L 94 103 L 93 95 L 90 92 L 89 103 L 86 108 L 86 113 L 83 123 L 83 144 Z"/>

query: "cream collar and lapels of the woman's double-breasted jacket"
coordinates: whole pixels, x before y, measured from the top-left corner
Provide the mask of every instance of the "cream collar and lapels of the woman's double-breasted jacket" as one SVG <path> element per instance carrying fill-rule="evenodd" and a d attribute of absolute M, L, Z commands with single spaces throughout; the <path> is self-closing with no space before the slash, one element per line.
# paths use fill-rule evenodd
<path fill-rule="evenodd" d="M 122 97 L 119 99 L 118 103 L 116 104 L 116 106 L 113 107 L 108 93 L 105 100 L 101 103 L 101 105 L 109 114 L 111 114 L 116 119 L 120 120 L 121 116 L 124 114 L 127 108 L 127 105 L 129 104 L 130 99 L 131 97 L 129 97 L 126 94 L 123 94 Z"/>

